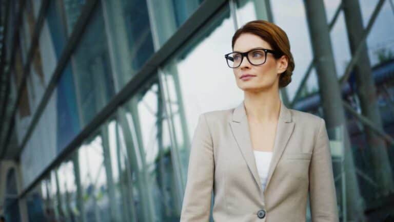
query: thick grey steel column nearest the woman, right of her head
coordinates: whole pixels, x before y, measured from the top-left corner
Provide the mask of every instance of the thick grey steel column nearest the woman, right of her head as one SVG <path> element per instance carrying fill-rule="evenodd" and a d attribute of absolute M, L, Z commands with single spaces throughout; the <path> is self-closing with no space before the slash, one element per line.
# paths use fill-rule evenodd
<path fill-rule="evenodd" d="M 347 128 L 342 106 L 341 87 L 335 68 L 329 26 L 323 0 L 304 0 L 309 34 L 312 43 L 320 96 L 327 128 L 344 125 Z M 351 221 L 363 221 L 364 201 L 357 181 L 349 133 L 344 131 L 344 164 L 346 177 L 347 217 Z M 344 203 L 343 203 L 344 204 Z"/>

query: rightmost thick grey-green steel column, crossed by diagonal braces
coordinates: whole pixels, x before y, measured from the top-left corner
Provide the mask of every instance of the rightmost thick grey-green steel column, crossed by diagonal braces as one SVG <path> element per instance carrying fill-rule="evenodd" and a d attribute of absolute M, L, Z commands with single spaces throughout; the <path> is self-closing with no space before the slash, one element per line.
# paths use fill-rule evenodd
<path fill-rule="evenodd" d="M 356 92 L 360 99 L 361 114 L 375 123 L 375 125 L 383 131 L 382 118 L 379 113 L 375 81 L 372 76 L 367 44 L 365 41 L 362 42 L 364 28 L 360 4 L 358 0 L 345 0 L 342 1 L 342 4 L 352 55 L 356 53 L 358 46 L 362 44 L 362 52 L 353 69 L 357 84 Z M 381 195 L 388 195 L 394 191 L 394 186 L 386 142 L 369 127 L 364 127 L 364 132 L 372 156 L 373 170 L 375 172 L 374 176 L 379 185 L 378 192 Z"/>

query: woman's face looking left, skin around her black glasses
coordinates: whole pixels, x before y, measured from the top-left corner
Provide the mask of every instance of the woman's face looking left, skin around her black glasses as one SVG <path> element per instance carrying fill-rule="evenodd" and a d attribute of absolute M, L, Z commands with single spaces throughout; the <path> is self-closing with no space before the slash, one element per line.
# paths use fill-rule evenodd
<path fill-rule="evenodd" d="M 271 49 L 271 46 L 260 36 L 252 33 L 242 33 L 234 43 L 233 51 L 246 52 L 252 48 L 262 47 Z M 272 87 L 279 87 L 280 73 L 287 68 L 287 59 L 283 55 L 279 59 L 275 59 L 272 53 L 267 53 L 267 58 L 262 65 L 252 65 L 246 57 L 244 57 L 241 65 L 234 68 L 235 81 L 239 88 L 244 91 L 262 91 Z M 249 74 L 253 77 L 242 78 L 242 75 Z"/>

